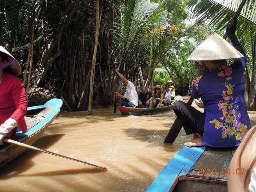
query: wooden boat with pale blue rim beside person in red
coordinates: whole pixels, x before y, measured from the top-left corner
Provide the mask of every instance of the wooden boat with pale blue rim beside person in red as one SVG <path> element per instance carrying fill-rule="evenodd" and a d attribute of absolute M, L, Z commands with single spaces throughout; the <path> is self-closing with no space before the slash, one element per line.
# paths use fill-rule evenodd
<path fill-rule="evenodd" d="M 58 115 L 61 106 L 62 100 L 54 98 L 44 105 L 28 107 L 28 112 L 25 116 L 28 132 L 22 134 L 17 128 L 15 140 L 28 145 L 33 144 Z M 13 144 L 0 149 L 0 167 L 6 165 L 25 150 L 26 148 Z"/>

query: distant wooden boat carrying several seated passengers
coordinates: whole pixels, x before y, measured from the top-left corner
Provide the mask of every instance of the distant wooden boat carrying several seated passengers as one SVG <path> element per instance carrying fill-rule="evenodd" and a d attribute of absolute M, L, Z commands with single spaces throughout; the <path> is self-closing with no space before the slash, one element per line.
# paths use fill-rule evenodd
<path fill-rule="evenodd" d="M 181 96 L 176 96 L 174 100 L 172 100 L 172 104 L 168 106 L 163 107 L 155 107 L 155 108 L 132 108 L 132 107 L 124 107 L 124 109 L 132 115 L 138 116 L 138 114 L 154 114 L 154 113 L 160 113 L 160 112 L 166 112 L 173 109 L 174 103 L 176 101 L 183 101 L 183 98 Z M 120 109 L 119 109 L 120 110 Z M 121 111 L 120 111 L 121 112 Z M 122 112 L 121 112 L 122 113 Z"/>

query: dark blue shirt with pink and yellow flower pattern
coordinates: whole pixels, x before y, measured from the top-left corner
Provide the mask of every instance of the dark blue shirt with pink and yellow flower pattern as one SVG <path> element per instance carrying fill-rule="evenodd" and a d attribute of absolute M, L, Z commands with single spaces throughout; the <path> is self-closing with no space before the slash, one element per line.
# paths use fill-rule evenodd
<path fill-rule="evenodd" d="M 201 97 L 205 106 L 203 144 L 238 146 L 250 129 L 244 101 L 246 62 L 247 56 L 244 55 L 230 66 L 222 65 L 194 79 L 191 96 Z"/>

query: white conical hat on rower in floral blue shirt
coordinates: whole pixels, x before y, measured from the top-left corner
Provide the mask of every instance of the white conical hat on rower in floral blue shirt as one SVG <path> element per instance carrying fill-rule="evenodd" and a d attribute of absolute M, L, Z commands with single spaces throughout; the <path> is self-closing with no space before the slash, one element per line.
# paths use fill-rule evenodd
<path fill-rule="evenodd" d="M 216 33 L 202 42 L 187 60 L 222 60 L 244 57 L 238 50 Z"/>

